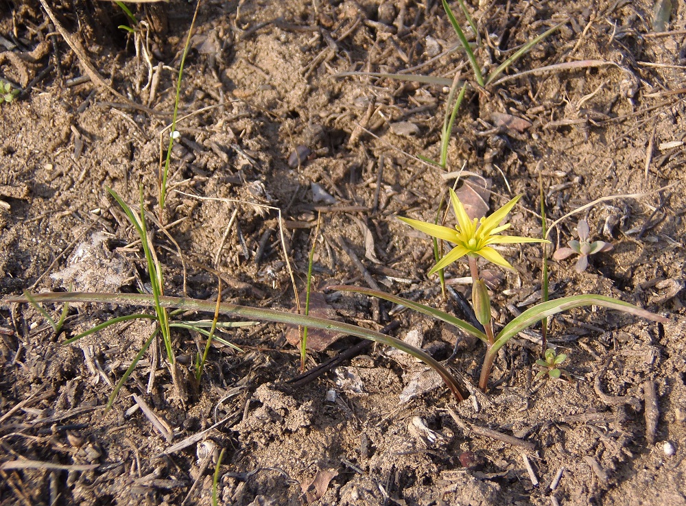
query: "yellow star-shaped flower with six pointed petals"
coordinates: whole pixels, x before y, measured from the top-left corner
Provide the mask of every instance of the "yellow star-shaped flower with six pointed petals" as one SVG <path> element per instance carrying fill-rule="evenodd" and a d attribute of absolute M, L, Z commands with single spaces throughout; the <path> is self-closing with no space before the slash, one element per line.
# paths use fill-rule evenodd
<path fill-rule="evenodd" d="M 489 217 L 482 219 L 469 219 L 462 202 L 458 199 L 453 189 L 450 189 L 450 201 L 453 204 L 455 216 L 458 219 L 458 225 L 455 228 L 448 228 L 440 225 L 427 223 L 426 221 L 419 221 L 418 219 L 399 218 L 406 224 L 416 228 L 420 232 L 429 234 L 437 239 L 443 239 L 455 244 L 446 256 L 434 265 L 429 271 L 429 274 L 445 269 L 447 265 L 457 261 L 464 255 L 469 256 L 483 256 L 489 262 L 505 267 L 506 269 L 513 269 L 512 265 L 501 254 L 493 248 L 491 244 L 514 244 L 514 243 L 549 243 L 545 239 L 534 239 L 532 237 L 517 237 L 514 235 L 497 235 L 499 232 L 510 228 L 512 224 L 499 225 L 503 219 L 510 213 L 514 204 L 521 198 L 517 195 L 510 202 L 499 208 L 495 213 Z"/>

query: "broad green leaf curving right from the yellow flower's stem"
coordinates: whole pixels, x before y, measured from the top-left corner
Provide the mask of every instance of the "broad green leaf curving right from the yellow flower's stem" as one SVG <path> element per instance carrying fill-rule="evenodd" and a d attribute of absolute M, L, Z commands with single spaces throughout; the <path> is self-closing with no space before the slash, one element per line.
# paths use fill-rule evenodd
<path fill-rule="evenodd" d="M 622 300 L 613 299 L 610 297 L 600 296 L 600 295 L 579 295 L 571 297 L 563 297 L 560 299 L 549 300 L 548 302 L 541 302 L 541 304 L 536 304 L 530 309 L 527 309 L 521 315 L 514 318 L 510 323 L 508 323 L 504 328 L 498 333 L 497 340 L 493 345 L 490 352 L 495 353 L 497 350 L 502 348 L 502 346 L 510 339 L 514 337 L 521 330 L 532 326 L 536 322 L 540 322 L 543 318 L 561 313 L 562 311 L 567 311 L 568 309 L 573 309 L 575 307 L 582 306 L 601 306 L 608 309 L 617 309 L 617 311 L 624 311 L 624 313 L 629 313 L 634 316 L 646 318 L 646 320 L 652 320 L 653 322 L 666 323 L 669 320 L 667 318 L 641 309 L 639 306 L 629 304 Z"/>

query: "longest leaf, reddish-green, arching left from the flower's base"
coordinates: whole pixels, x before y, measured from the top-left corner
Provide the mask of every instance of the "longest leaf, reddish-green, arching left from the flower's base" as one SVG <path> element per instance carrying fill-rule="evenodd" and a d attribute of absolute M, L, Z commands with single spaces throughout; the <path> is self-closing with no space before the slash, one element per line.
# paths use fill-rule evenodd
<path fill-rule="evenodd" d="M 203 311 L 206 313 L 213 313 L 213 311 L 215 311 L 214 302 L 167 296 L 162 296 L 158 301 L 156 301 L 153 296 L 147 295 L 146 293 L 53 292 L 40 293 L 34 295 L 33 298 L 38 302 L 94 302 L 100 304 L 120 304 L 125 306 L 147 307 L 154 307 L 155 304 L 160 304 L 165 308 L 178 308 L 186 311 Z M 8 298 L 8 302 L 29 302 L 29 300 L 25 297 L 16 297 Z M 220 313 L 224 315 L 233 315 L 235 317 L 249 318 L 251 320 L 261 320 L 264 322 L 276 322 L 288 325 L 310 326 L 312 328 L 321 328 L 322 330 L 333 330 L 334 332 L 340 332 L 346 335 L 354 335 L 356 337 L 362 337 L 362 339 L 369 339 L 370 341 L 375 341 L 383 344 L 384 346 L 392 346 L 393 348 L 408 353 L 412 355 L 412 357 L 415 357 L 416 359 L 419 359 L 425 364 L 429 365 L 429 367 L 434 369 L 442 378 L 456 399 L 464 400 L 462 389 L 449 370 L 447 370 L 440 362 L 436 361 L 436 359 L 431 357 L 431 355 L 427 354 L 424 350 L 407 344 L 405 341 L 401 341 L 401 339 L 396 339 L 395 337 L 391 337 L 389 335 L 383 335 L 375 330 L 369 330 L 368 328 L 362 328 L 357 325 L 351 325 L 342 322 L 335 322 L 333 320 L 327 320 L 326 318 L 298 315 L 288 311 L 276 311 L 275 309 L 238 306 L 236 304 L 229 304 L 228 302 L 222 302 Z M 466 324 L 466 322 L 463 323 Z M 466 325 L 471 327 L 469 324 Z M 149 343 L 147 346 L 150 346 Z"/>

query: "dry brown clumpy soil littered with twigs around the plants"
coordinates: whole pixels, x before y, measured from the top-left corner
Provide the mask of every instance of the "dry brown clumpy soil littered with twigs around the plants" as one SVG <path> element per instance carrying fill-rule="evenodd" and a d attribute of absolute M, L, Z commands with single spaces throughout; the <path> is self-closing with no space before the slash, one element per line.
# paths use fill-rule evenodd
<path fill-rule="evenodd" d="M 114 3 L 0 0 L 0 77 L 21 90 L 0 104 L 0 503 L 209 504 L 224 450 L 222 504 L 686 504 L 684 5 L 672 1 L 661 22 L 656 9 L 669 1 L 467 3 L 484 67 L 557 23 L 505 75 L 586 63 L 471 87 L 440 169 L 416 157 L 439 156 L 444 86 L 339 75 L 471 77 L 440 2 L 204 1 L 160 213 L 160 136 L 194 5 L 128 4 L 141 23 L 127 34 Z M 136 309 L 74 305 L 56 336 L 32 306 L 7 300 L 71 284 L 149 289 L 141 243 L 106 191 L 134 205 L 141 185 L 167 294 L 215 300 L 219 274 L 225 302 L 291 311 L 284 249 L 302 293 L 315 241 L 317 311 L 392 324 L 474 385 L 482 344 L 386 302 L 321 289 L 376 284 L 469 317 L 466 263 L 447 269 L 452 292 L 442 298 L 426 274 L 431 241 L 395 219 L 433 220 L 462 168 L 465 198 L 464 182 L 490 188 L 475 201 L 482 210 L 523 195 L 507 232 L 517 235 L 541 233 L 539 176 L 549 223 L 624 195 L 552 230 L 553 247 L 564 246 L 585 218 L 614 245 L 581 273 L 573 258 L 552 262 L 552 297 L 599 293 L 670 322 L 557 315 L 549 339 L 569 355 L 571 381 L 534 380 L 533 328 L 501 350 L 489 391 L 460 403 L 421 363 L 376 345 L 287 383 L 300 373 L 288 341 L 297 334 L 274 324 L 222 331 L 241 351 L 215 341 L 194 385 L 204 337 L 174 330 L 183 385 L 154 343 L 104 413 L 150 320 L 65 346 Z M 501 253 L 516 271 L 491 269 L 497 326 L 541 297 L 539 245 Z M 357 344 L 311 341 L 307 368 Z"/>

